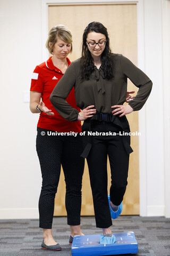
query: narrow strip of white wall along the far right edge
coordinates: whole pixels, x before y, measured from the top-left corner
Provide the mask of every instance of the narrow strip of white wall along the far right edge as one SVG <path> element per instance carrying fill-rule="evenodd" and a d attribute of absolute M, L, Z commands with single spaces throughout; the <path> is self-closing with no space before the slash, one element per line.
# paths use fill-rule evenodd
<path fill-rule="evenodd" d="M 165 166 L 165 214 L 170 217 L 170 1 L 162 0 L 163 9 L 163 93 L 164 93 L 164 166 Z"/>

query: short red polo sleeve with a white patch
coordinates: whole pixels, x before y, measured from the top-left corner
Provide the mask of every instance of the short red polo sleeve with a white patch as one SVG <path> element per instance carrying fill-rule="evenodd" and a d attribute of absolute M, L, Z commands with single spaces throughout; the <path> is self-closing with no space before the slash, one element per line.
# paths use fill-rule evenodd
<path fill-rule="evenodd" d="M 44 78 L 43 78 L 43 74 L 41 74 L 41 68 L 37 66 L 32 73 L 30 91 L 36 91 L 36 92 L 42 93 L 43 90 L 44 90 Z"/>

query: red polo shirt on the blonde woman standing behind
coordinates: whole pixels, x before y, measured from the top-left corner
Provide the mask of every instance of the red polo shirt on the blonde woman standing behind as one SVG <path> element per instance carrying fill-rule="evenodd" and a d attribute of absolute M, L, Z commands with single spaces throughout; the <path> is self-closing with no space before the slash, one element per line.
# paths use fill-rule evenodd
<path fill-rule="evenodd" d="M 69 65 L 71 64 L 71 61 L 68 58 L 67 62 Z M 40 92 L 41 99 L 45 103 L 46 107 L 51 109 L 54 113 L 54 116 L 49 116 L 44 112 L 40 113 L 37 126 L 39 128 L 58 132 L 81 132 L 81 122 L 70 122 L 64 119 L 60 114 L 58 114 L 49 100 L 50 94 L 63 75 L 62 71 L 53 65 L 52 57 L 50 57 L 46 62 L 38 65 L 33 71 L 30 91 Z M 69 93 L 66 101 L 73 108 L 80 111 L 75 103 L 74 88 Z"/>

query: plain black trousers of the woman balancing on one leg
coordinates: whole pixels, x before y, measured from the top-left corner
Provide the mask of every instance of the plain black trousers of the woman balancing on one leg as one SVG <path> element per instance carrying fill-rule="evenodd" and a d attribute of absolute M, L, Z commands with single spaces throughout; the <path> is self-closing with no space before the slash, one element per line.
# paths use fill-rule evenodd
<path fill-rule="evenodd" d="M 84 130 L 87 130 L 86 122 L 83 126 Z M 129 154 L 126 153 L 119 126 L 111 122 L 94 121 L 91 131 L 104 132 L 104 134 L 119 133 L 118 135 L 92 135 L 92 147 L 87 157 L 96 226 L 108 228 L 112 225 L 112 219 L 107 198 L 107 156 L 111 166 L 111 201 L 115 205 L 120 205 L 128 184 Z M 84 145 L 87 143 L 86 140 L 87 137 L 84 138 Z"/>

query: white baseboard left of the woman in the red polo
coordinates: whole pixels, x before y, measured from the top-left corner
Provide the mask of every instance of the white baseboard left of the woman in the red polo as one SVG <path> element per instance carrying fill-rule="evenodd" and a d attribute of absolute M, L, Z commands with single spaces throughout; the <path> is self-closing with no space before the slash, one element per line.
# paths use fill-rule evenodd
<path fill-rule="evenodd" d="M 38 208 L 5 208 L 0 209 L 0 219 L 38 219 Z"/>

